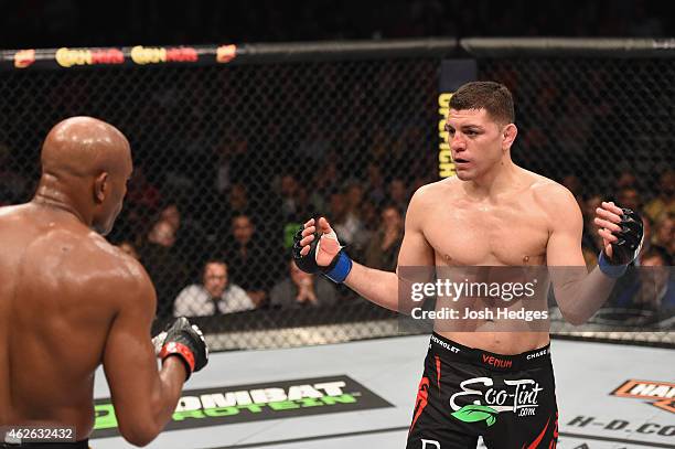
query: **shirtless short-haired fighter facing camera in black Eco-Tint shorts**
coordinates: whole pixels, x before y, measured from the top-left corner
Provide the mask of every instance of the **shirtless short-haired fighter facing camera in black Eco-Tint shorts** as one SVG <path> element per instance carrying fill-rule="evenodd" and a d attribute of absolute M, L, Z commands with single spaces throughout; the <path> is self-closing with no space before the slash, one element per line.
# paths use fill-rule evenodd
<path fill-rule="evenodd" d="M 556 300 L 566 320 L 583 323 L 638 254 L 642 221 L 632 211 L 602 203 L 594 223 L 604 248 L 599 267 L 589 274 L 575 197 L 511 160 L 517 129 L 508 89 L 488 82 L 463 85 L 450 99 L 446 129 L 457 177 L 425 185 L 410 200 L 397 274 L 353 263 L 324 217 L 310 220 L 296 235 L 298 266 L 401 312 L 409 311 L 399 302 L 401 267 L 566 267 L 561 281 L 550 275 Z M 475 448 L 479 436 L 489 448 L 555 447 L 548 332 L 491 332 L 495 322 L 482 323 L 479 332 L 454 332 L 438 323 L 407 447 Z M 516 394 L 532 406 L 525 416 L 514 406 Z"/>

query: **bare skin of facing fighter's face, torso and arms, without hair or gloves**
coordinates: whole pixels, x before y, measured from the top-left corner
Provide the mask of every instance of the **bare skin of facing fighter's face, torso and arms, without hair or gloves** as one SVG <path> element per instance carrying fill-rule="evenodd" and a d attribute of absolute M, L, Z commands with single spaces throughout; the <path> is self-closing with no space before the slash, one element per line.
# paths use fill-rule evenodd
<path fill-rule="evenodd" d="M 495 122 L 485 109 L 451 109 L 447 129 L 457 177 L 425 185 L 410 200 L 398 267 L 566 267 L 550 274 L 556 300 L 568 321 L 585 322 L 604 302 L 614 280 L 599 269 L 586 270 L 582 216 L 572 194 L 513 163 L 515 125 Z M 617 240 L 611 232 L 620 229 L 621 210 L 602 203 L 596 214 L 598 233 L 611 257 L 611 243 Z M 331 231 L 324 217 L 304 224 L 301 245 L 309 245 L 314 232 L 322 238 L 317 253 L 321 266 L 340 250 L 328 237 Z M 309 249 L 306 246 L 301 254 Z M 399 280 L 395 272 L 354 263 L 344 284 L 372 302 L 409 313 L 413 304 L 398 301 Z M 499 354 L 518 354 L 549 341 L 548 332 L 492 331 L 499 323 L 473 324 L 473 332 L 456 332 L 443 330 L 437 321 L 435 330 L 465 346 Z"/>

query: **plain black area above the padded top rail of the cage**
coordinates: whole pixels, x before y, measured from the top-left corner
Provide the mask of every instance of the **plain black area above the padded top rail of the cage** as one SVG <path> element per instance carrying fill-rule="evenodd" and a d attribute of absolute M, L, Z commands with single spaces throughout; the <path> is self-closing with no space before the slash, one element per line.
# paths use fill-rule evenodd
<path fill-rule="evenodd" d="M 10 47 L 176 45 L 421 36 L 672 36 L 669 2 L 356 0 L 2 2 Z M 101 13 L 105 11 L 105 14 Z M 326 13 L 330 11 L 330 13 Z"/>

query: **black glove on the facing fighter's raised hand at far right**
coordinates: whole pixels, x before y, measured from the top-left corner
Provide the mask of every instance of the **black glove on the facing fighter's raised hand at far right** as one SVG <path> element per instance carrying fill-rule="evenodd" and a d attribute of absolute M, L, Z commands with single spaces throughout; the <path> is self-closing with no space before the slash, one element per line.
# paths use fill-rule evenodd
<path fill-rule="evenodd" d="M 600 253 L 598 265 L 600 270 L 607 276 L 618 278 L 623 275 L 626 266 L 635 260 L 642 248 L 644 237 L 644 227 L 642 218 L 636 212 L 630 209 L 621 209 L 621 222 L 618 225 L 621 227 L 619 232 L 612 232 L 618 238 L 612 245 L 612 257 L 604 254 L 604 249 Z"/>

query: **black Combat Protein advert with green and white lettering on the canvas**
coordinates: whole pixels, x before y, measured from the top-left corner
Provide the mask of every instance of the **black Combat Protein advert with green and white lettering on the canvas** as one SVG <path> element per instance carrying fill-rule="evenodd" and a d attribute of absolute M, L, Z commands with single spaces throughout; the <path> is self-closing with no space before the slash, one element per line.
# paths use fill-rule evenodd
<path fill-rule="evenodd" d="M 300 378 L 183 392 L 167 430 L 393 407 L 353 378 Z M 95 400 L 92 438 L 117 436 L 109 398 Z"/>

